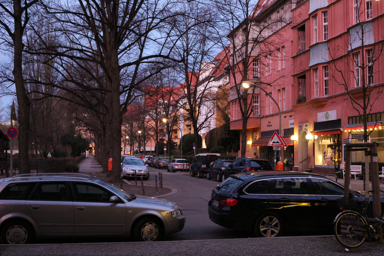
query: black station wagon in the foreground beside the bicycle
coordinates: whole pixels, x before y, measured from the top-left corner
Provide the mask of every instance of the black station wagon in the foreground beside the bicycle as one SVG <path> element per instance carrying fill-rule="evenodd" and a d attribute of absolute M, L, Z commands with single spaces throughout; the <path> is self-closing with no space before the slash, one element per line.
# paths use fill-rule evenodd
<path fill-rule="evenodd" d="M 343 195 L 343 185 L 314 173 L 239 173 L 212 190 L 208 212 L 214 223 L 252 231 L 255 236 L 281 236 L 286 231 L 331 233 L 340 212 L 337 201 Z M 365 199 L 352 191 L 350 197 Z M 381 201 L 384 206 L 384 197 Z"/>

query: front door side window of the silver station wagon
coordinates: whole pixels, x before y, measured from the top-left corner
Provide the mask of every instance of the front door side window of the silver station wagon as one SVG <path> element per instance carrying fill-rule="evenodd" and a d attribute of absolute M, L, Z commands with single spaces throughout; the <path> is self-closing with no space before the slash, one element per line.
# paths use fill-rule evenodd
<path fill-rule="evenodd" d="M 75 201 L 78 202 L 109 203 L 109 199 L 114 196 L 111 192 L 92 183 L 73 182 L 72 186 Z"/>

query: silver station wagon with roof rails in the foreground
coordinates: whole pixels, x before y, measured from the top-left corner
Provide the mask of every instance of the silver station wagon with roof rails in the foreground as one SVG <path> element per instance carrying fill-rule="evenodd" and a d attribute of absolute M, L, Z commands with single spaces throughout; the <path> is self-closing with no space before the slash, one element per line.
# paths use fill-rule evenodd
<path fill-rule="evenodd" d="M 175 203 L 132 195 L 79 173 L 2 178 L 0 205 L 0 235 L 9 244 L 54 236 L 131 236 L 154 241 L 181 231 L 185 223 Z"/>

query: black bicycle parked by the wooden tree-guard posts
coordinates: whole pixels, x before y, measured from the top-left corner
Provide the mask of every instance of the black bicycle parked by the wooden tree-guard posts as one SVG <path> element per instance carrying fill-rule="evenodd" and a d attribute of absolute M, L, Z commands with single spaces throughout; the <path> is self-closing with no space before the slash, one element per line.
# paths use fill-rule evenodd
<path fill-rule="evenodd" d="M 380 190 L 384 193 L 382 190 Z M 369 191 L 374 192 L 374 191 Z M 352 200 L 351 200 L 352 199 Z M 344 199 L 337 200 L 342 206 Z M 350 198 L 349 206 L 341 211 L 334 221 L 334 234 L 338 242 L 346 248 L 358 248 L 366 239 L 379 238 L 379 231 L 384 226 L 384 214 L 379 218 L 370 218 L 371 205 L 366 199 L 358 206 L 359 200 Z M 345 207 L 343 207 L 345 209 Z"/>

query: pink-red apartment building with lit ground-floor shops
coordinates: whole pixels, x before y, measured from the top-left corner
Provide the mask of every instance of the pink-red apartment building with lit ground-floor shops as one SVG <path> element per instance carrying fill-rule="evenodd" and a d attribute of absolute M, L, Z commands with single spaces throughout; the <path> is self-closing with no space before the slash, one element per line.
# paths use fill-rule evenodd
<path fill-rule="evenodd" d="M 266 3 L 257 17 L 273 19 L 270 13 L 281 6 L 288 8 L 291 20 L 268 36 L 284 31 L 284 40 L 276 36 L 281 47 L 259 58 L 264 69 L 260 80 L 279 78 L 268 89 L 281 104 L 282 135 L 290 145 L 284 149 L 286 165 L 320 174 L 343 168 L 343 140 L 364 133 L 360 106 L 367 96 L 369 140 L 379 142 L 379 162 L 384 162 L 383 0 L 303 0 L 291 5 L 276 0 Z M 363 88 L 367 88 L 365 94 Z M 250 118 L 247 126 L 252 141 L 247 157 L 257 155 L 273 162 L 271 149 L 265 145 L 278 130 L 279 115 L 268 95 L 258 96 L 259 116 Z M 231 129 L 241 129 L 233 102 Z M 353 152 L 351 161 L 364 162 L 364 151 Z"/>

